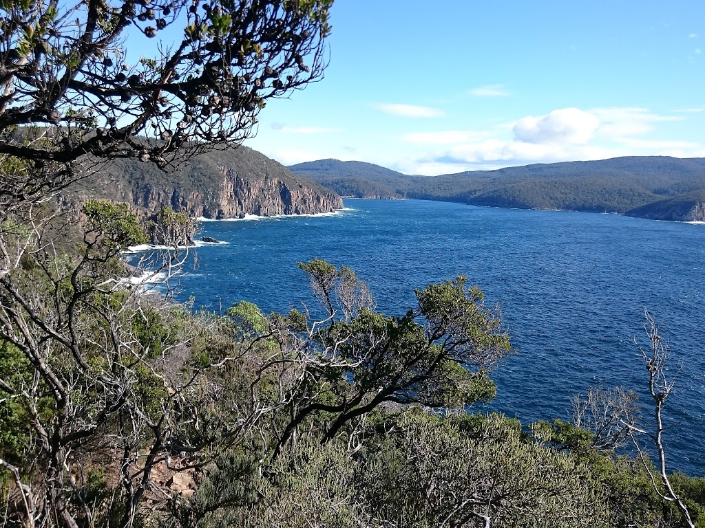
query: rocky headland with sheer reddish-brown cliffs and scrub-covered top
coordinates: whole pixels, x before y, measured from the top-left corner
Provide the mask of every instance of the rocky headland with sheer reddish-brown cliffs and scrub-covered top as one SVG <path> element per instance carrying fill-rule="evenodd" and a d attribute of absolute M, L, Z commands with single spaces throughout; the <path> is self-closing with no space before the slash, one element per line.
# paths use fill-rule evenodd
<path fill-rule="evenodd" d="M 71 192 L 130 203 L 147 216 L 165 205 L 212 219 L 329 213 L 343 207 L 333 191 L 247 147 L 211 151 L 168 173 L 137 159 L 116 160 Z"/>

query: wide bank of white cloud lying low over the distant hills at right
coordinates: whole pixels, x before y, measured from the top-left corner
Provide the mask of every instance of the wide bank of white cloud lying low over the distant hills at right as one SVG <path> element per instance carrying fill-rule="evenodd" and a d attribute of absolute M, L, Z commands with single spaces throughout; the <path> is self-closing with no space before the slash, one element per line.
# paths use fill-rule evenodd
<path fill-rule="evenodd" d="M 559 108 L 546 115 L 527 115 L 491 134 L 408 134 L 403 138 L 406 142 L 425 143 L 428 148 L 422 156 L 408 160 L 405 168 L 419 174 L 439 174 L 617 156 L 705 156 L 705 147 L 697 143 L 646 135 L 661 122 L 682 119 L 639 107 Z"/>

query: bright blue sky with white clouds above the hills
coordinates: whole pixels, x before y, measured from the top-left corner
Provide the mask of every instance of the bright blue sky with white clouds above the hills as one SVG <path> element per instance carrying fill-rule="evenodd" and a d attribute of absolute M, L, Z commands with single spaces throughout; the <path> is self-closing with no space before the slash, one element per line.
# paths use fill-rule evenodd
<path fill-rule="evenodd" d="M 245 145 L 439 175 L 705 157 L 701 0 L 336 0 L 324 79 Z"/>

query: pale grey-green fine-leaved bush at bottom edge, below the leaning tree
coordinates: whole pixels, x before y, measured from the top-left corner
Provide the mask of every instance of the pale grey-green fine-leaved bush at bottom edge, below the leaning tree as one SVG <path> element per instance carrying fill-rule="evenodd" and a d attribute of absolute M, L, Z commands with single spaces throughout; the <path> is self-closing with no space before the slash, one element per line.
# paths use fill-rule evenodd
<path fill-rule="evenodd" d="M 608 527 L 604 491 L 572 453 L 501 415 L 405 413 L 362 451 L 378 526 Z"/>

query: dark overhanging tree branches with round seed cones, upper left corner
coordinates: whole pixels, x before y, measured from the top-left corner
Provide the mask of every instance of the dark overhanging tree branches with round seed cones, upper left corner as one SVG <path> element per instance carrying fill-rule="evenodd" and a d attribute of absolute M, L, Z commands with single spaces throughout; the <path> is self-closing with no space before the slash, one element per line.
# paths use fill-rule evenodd
<path fill-rule="evenodd" d="M 87 158 L 168 169 L 237 146 L 268 99 L 321 77 L 332 4 L 1 1 L 0 210 L 46 199 Z M 159 42 L 168 27 L 183 32 Z M 130 64 L 128 42 L 149 52 Z"/>

